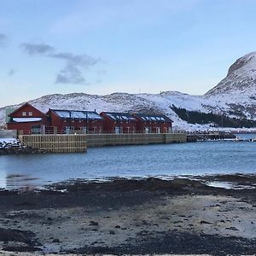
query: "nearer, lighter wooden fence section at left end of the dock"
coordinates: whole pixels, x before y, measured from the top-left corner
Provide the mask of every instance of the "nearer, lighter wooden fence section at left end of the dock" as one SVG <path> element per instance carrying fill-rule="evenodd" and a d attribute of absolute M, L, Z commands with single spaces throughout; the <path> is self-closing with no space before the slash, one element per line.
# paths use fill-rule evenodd
<path fill-rule="evenodd" d="M 52 153 L 86 152 L 86 135 L 20 135 L 20 142 Z"/>

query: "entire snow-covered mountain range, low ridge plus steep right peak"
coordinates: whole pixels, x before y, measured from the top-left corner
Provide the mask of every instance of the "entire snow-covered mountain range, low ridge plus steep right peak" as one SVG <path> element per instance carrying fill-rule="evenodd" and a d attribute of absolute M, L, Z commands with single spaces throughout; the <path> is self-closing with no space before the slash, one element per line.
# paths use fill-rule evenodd
<path fill-rule="evenodd" d="M 160 94 L 113 93 L 106 96 L 85 93 L 54 94 L 42 96 L 31 103 L 42 112 L 49 108 L 84 109 L 102 111 L 135 111 L 165 113 L 174 121 L 177 129 L 207 129 L 207 125 L 188 125 L 172 110 L 186 108 L 202 113 L 225 114 L 230 117 L 256 119 L 256 52 L 238 59 L 230 66 L 225 79 L 203 96 L 191 96 L 177 91 Z M 16 108 L 22 103 L 5 108 Z M 0 108 L 0 125 L 4 123 L 5 108 Z"/>

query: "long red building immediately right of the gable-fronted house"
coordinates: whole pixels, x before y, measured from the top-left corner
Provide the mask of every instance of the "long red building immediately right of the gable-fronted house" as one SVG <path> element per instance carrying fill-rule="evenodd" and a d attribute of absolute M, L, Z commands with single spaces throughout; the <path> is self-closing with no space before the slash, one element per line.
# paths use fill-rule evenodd
<path fill-rule="evenodd" d="M 102 133 L 102 117 L 92 111 L 50 109 L 49 133 Z"/>

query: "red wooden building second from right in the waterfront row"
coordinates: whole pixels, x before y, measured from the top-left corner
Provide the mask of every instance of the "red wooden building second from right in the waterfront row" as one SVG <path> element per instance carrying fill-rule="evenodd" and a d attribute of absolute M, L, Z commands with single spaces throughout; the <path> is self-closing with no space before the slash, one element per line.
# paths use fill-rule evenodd
<path fill-rule="evenodd" d="M 104 132 L 107 133 L 135 133 L 137 120 L 130 113 L 102 112 Z"/>

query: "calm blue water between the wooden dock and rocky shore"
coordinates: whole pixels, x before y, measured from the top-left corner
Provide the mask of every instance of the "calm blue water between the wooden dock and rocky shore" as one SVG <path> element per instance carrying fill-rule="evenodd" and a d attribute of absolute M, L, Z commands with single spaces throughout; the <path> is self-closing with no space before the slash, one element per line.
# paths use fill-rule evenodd
<path fill-rule="evenodd" d="M 256 143 L 161 144 L 89 148 L 87 154 L 0 156 L 0 188 L 8 189 L 71 178 L 235 172 L 256 173 Z"/>

